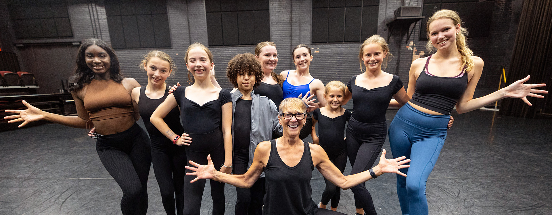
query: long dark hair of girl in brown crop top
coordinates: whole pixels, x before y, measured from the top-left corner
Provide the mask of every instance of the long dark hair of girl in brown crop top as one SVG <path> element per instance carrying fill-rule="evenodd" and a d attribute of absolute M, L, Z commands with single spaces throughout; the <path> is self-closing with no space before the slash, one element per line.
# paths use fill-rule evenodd
<path fill-rule="evenodd" d="M 81 47 L 78 48 L 75 73 L 73 73 L 71 78 L 69 78 L 69 92 L 77 92 L 81 90 L 84 85 L 90 84 L 90 81 L 94 78 L 95 74 L 90 68 L 88 68 L 86 58 L 84 56 L 84 51 L 92 45 L 103 48 L 109 54 L 109 58 L 111 59 L 111 67 L 109 68 L 111 79 L 118 83 L 123 81 L 124 76 L 121 75 L 119 70 L 119 59 L 115 55 L 113 48 L 103 40 L 92 38 L 82 42 Z"/>

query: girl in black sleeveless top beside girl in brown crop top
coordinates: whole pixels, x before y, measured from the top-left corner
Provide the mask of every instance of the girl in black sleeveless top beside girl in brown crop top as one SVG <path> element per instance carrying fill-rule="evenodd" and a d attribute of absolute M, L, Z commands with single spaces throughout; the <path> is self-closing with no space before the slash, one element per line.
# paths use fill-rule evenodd
<path fill-rule="evenodd" d="M 132 100 L 140 107 L 140 116 L 144 120 L 147 133 L 150 135 L 153 171 L 159 184 L 165 212 L 167 214 L 182 214 L 184 208 L 184 166 L 187 163 L 184 147 L 172 144 L 172 141 L 164 137 L 150 122 L 153 111 L 165 101 L 169 94 L 165 80 L 168 76 L 174 75 L 176 66 L 168 54 L 161 51 L 151 51 L 144 56 L 140 68 L 146 70 L 147 85 L 133 89 Z M 163 120 L 171 130 L 177 134 L 183 134 L 184 130 L 180 124 L 179 115 L 178 107 L 174 107 Z M 189 139 L 185 136 L 186 138 Z M 189 140 L 184 141 L 191 142 Z"/>

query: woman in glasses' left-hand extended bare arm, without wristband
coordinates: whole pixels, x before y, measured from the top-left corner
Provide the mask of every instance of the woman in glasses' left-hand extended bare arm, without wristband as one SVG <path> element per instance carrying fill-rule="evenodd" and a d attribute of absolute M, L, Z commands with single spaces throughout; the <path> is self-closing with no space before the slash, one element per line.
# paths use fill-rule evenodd
<path fill-rule="evenodd" d="M 194 183 L 199 179 L 213 179 L 222 183 L 231 184 L 237 186 L 238 188 L 251 188 L 255 181 L 261 176 L 266 162 L 268 161 L 268 156 L 270 155 L 270 142 L 265 141 L 259 143 L 255 149 L 253 155 L 253 163 L 247 172 L 243 175 L 230 175 L 226 173 L 219 172 L 213 166 L 213 161 L 211 161 L 211 156 L 207 156 L 207 165 L 200 165 L 193 161 L 189 161 L 194 167 L 186 166 L 186 169 L 195 171 L 191 173 L 186 173 L 187 175 L 196 175 L 197 178 L 190 181 Z"/>

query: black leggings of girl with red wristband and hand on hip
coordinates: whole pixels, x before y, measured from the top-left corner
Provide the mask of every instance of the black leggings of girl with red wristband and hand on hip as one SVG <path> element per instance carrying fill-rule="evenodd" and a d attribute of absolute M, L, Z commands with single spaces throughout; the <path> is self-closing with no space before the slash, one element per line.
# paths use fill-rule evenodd
<path fill-rule="evenodd" d="M 185 133 L 185 131 L 184 131 Z M 193 147 L 193 148 L 212 148 L 210 151 L 206 152 L 197 152 L 189 150 L 190 146 L 186 147 L 186 157 L 188 161 L 194 161 L 201 165 L 207 165 L 207 155 L 211 155 L 211 160 L 215 166 L 216 170 L 220 170 L 222 164 L 224 164 L 224 144 L 222 143 L 222 132 L 220 129 L 216 129 L 215 132 L 208 134 L 191 134 L 187 133 L 192 137 L 193 144 L 218 144 L 214 147 Z M 213 145 L 211 145 L 213 146 Z M 193 149 L 192 148 L 192 149 Z M 188 163 L 188 166 L 193 167 L 192 164 Z M 193 172 L 192 170 L 186 169 L 186 172 Z M 205 179 L 195 181 L 190 183 L 195 179 L 195 175 L 185 175 L 184 176 L 184 192 L 188 196 L 184 201 L 184 213 L 185 215 L 196 215 L 200 214 L 201 211 L 201 198 L 203 197 L 203 189 L 205 188 Z M 213 199 L 213 214 L 222 215 L 225 210 L 225 200 L 224 200 L 224 183 L 220 183 L 215 180 L 209 180 L 211 185 L 211 198 Z"/>

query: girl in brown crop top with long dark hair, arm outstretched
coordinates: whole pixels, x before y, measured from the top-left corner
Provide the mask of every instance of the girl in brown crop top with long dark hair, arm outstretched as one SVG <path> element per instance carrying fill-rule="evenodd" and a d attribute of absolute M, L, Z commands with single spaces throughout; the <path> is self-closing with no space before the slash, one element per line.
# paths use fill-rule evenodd
<path fill-rule="evenodd" d="M 150 139 L 135 123 L 137 107 L 131 90 L 140 84 L 119 73 L 119 61 L 113 48 L 99 39 L 88 39 L 78 49 L 77 68 L 69 90 L 77 116 L 41 111 L 23 101 L 28 109 L 7 110 L 9 123 L 37 120 L 90 129 L 99 134 L 96 150 L 105 169 L 123 190 L 123 214 L 145 214 L 147 211 L 147 176 L 151 166 Z"/>

